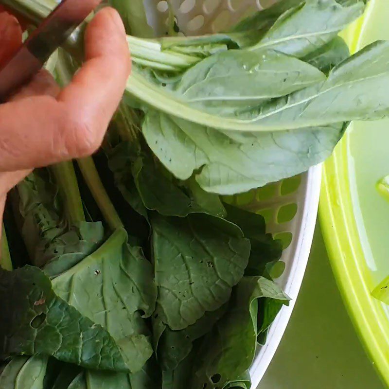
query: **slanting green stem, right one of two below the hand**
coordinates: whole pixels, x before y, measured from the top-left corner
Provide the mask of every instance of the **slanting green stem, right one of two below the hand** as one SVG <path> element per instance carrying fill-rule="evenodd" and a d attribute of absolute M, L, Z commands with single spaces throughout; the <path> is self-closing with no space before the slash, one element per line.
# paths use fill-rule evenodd
<path fill-rule="evenodd" d="M 90 192 L 93 195 L 100 211 L 103 213 L 106 222 L 112 230 L 123 227 L 122 220 L 120 219 L 115 207 L 113 206 L 103 183 L 100 180 L 99 173 L 91 157 L 78 159 L 78 166 L 81 173 L 88 185 Z"/>

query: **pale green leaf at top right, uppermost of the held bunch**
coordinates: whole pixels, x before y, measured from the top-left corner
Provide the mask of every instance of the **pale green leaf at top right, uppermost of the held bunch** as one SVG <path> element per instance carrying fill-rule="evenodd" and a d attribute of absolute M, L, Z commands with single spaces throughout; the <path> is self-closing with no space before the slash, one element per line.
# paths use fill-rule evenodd
<path fill-rule="evenodd" d="M 304 57 L 330 42 L 365 9 L 363 1 L 306 0 L 286 11 L 251 50 L 273 49 Z"/>

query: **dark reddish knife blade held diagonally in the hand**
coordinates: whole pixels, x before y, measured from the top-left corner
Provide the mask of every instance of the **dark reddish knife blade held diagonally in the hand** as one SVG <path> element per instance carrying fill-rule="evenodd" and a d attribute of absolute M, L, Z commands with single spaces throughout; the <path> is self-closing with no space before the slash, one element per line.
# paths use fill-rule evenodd
<path fill-rule="evenodd" d="M 63 0 L 0 70 L 0 100 L 28 82 L 101 0 Z"/>

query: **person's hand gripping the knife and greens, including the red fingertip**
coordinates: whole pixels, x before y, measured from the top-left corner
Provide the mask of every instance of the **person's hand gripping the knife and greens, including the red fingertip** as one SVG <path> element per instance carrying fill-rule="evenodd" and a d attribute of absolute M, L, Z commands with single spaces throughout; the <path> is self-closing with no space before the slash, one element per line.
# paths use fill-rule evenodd
<path fill-rule="evenodd" d="M 18 20 L 0 9 L 0 65 L 21 35 Z M 89 23 L 85 56 L 63 90 L 40 71 L 0 105 L 0 222 L 8 191 L 32 169 L 88 156 L 100 146 L 131 69 L 124 26 L 112 8 Z"/>

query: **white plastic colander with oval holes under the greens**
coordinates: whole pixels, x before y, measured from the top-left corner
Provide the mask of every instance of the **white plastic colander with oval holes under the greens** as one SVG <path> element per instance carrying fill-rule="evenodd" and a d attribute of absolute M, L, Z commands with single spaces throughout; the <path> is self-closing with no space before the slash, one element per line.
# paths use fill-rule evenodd
<path fill-rule="evenodd" d="M 143 0 L 147 19 L 158 35 L 165 35 L 168 3 Z M 177 24 L 185 35 L 202 35 L 227 30 L 241 18 L 273 4 L 276 0 L 170 0 Z M 315 230 L 321 182 L 321 167 L 297 177 L 230 198 L 230 202 L 262 214 L 267 232 L 283 241 L 283 275 L 277 279 L 292 299 L 273 322 L 265 346 L 259 348 L 250 369 L 256 388 L 273 358 L 296 302 Z"/>

